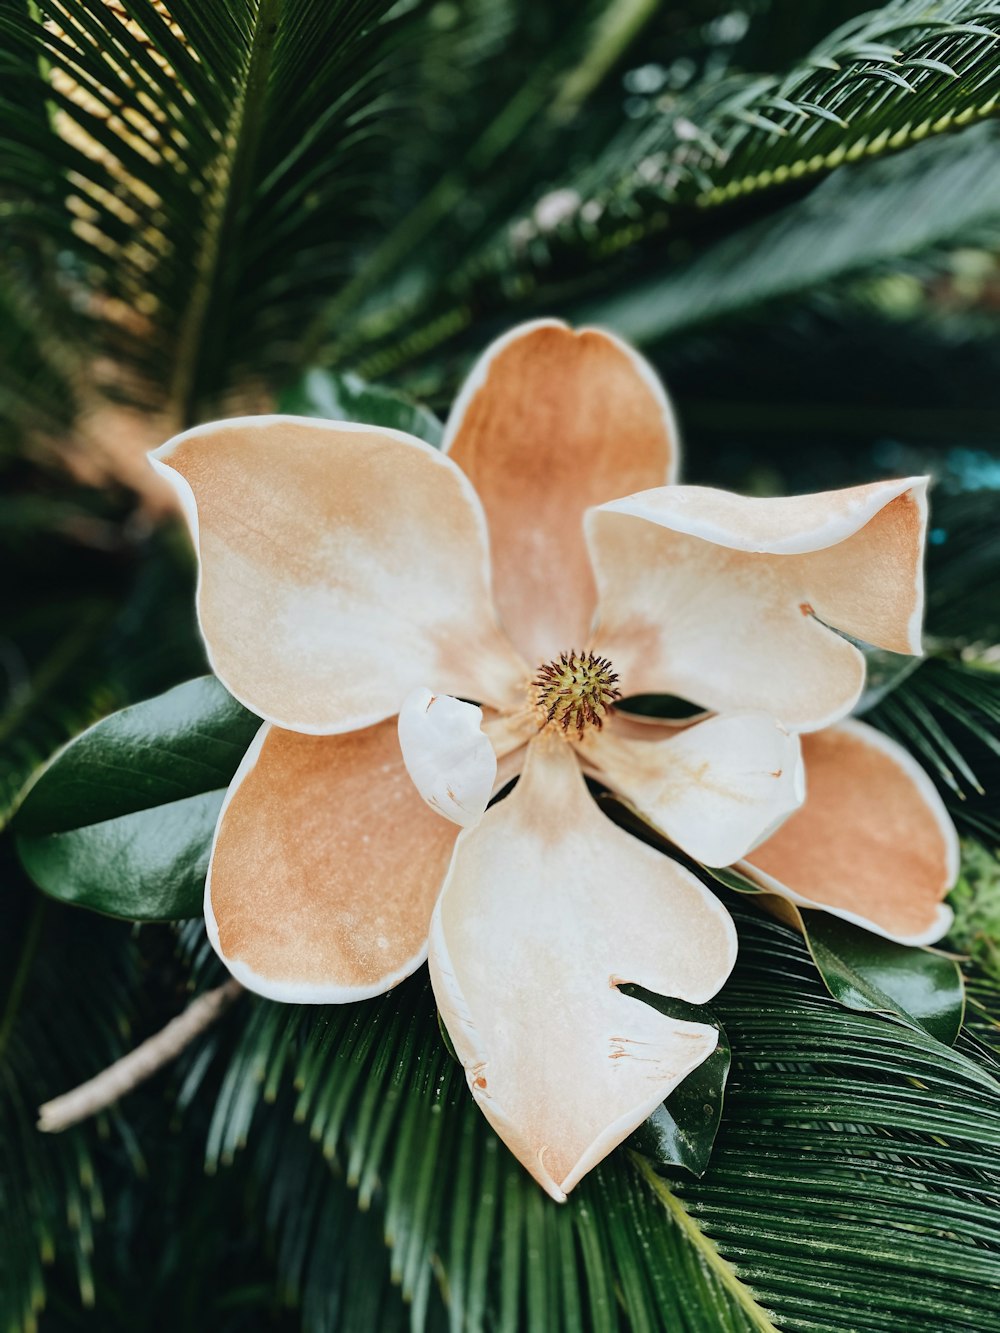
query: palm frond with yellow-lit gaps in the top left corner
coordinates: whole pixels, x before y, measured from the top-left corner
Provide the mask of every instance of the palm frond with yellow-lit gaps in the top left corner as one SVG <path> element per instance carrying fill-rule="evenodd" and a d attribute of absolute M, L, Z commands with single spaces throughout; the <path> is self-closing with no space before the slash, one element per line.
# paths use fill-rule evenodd
<path fill-rule="evenodd" d="M 4 0 L 3 285 L 61 256 L 77 355 L 175 421 L 276 373 L 372 225 L 389 8 Z"/>

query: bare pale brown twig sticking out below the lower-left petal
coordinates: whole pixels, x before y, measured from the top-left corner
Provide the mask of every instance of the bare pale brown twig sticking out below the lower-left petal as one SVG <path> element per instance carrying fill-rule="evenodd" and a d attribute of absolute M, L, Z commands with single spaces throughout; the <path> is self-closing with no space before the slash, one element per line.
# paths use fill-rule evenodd
<path fill-rule="evenodd" d="M 241 993 L 240 982 L 229 978 L 225 985 L 199 996 L 184 1013 L 171 1018 L 161 1032 L 148 1037 L 121 1060 L 116 1060 L 113 1065 L 108 1065 L 79 1088 L 39 1106 L 39 1129 L 57 1134 L 111 1106 L 157 1069 L 176 1060 L 181 1050 L 211 1028 Z"/>

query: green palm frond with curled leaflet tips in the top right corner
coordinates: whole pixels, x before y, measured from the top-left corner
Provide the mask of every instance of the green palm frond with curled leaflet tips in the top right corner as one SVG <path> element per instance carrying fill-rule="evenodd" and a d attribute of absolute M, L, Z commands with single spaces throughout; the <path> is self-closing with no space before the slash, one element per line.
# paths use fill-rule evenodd
<path fill-rule="evenodd" d="M 896 0 L 849 19 L 787 73 L 664 91 L 592 179 L 617 172 L 608 193 L 624 216 L 653 200 L 708 208 L 971 125 L 999 109 L 999 19 L 976 0 Z"/>

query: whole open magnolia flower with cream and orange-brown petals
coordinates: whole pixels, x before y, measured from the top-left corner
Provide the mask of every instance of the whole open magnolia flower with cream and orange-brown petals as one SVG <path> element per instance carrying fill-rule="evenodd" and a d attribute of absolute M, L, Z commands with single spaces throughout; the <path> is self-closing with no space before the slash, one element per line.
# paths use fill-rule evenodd
<path fill-rule="evenodd" d="M 924 480 L 748 500 L 675 485 L 677 449 L 635 352 L 544 321 L 480 360 L 440 452 L 273 416 L 152 456 L 212 666 L 264 718 L 212 848 L 215 948 L 264 996 L 341 1002 L 429 941 L 472 1094 L 555 1198 L 716 1044 L 620 986 L 700 1004 L 736 956 L 721 904 L 588 777 L 797 902 L 893 938 L 947 924 L 929 782 L 823 729 L 864 682 L 845 635 L 920 651 Z M 629 716 L 639 693 L 704 714 Z"/>

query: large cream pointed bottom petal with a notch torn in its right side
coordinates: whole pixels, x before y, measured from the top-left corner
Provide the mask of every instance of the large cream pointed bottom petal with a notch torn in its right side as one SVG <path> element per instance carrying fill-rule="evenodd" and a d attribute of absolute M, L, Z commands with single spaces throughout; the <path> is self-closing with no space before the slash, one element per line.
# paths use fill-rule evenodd
<path fill-rule="evenodd" d="M 715 1029 L 619 990 L 703 1004 L 736 932 L 681 866 L 607 820 L 568 742 L 532 742 L 513 793 L 456 844 L 431 980 L 472 1096 L 564 1198 L 705 1060 Z"/>

